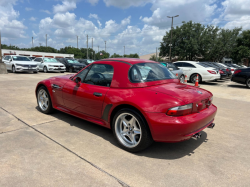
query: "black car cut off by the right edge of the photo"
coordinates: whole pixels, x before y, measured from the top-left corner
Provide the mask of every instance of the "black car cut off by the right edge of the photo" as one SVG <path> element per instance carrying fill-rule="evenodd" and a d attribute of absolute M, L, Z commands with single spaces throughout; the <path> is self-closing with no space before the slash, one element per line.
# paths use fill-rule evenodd
<path fill-rule="evenodd" d="M 250 88 L 250 68 L 239 68 L 235 70 L 231 81 L 246 84 Z"/>

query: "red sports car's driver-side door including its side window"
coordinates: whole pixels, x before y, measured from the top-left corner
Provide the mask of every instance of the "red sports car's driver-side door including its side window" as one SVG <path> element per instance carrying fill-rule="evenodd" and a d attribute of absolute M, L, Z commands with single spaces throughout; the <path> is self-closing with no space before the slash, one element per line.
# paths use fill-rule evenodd
<path fill-rule="evenodd" d="M 79 113 L 101 118 L 103 101 L 111 85 L 113 73 L 113 67 L 108 64 L 88 66 L 76 75 L 83 80 L 80 86 L 75 81 L 65 84 L 64 105 Z"/>

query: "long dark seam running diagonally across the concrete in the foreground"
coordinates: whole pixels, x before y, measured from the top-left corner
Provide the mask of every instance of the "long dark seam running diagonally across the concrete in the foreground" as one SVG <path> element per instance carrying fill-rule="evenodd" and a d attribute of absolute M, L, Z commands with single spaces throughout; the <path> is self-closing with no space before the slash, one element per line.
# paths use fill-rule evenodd
<path fill-rule="evenodd" d="M 12 115 L 13 117 L 15 117 L 18 121 L 22 122 L 23 124 L 27 125 L 28 127 L 32 128 L 33 130 L 35 130 L 36 132 L 38 132 L 39 134 L 45 136 L 46 138 L 48 138 L 49 140 L 53 141 L 54 143 L 56 143 L 57 145 L 61 146 L 62 148 L 66 149 L 68 152 L 74 154 L 75 156 L 77 156 L 78 158 L 80 158 L 81 160 L 87 162 L 88 164 L 90 164 L 91 166 L 95 167 L 96 169 L 98 169 L 99 171 L 107 174 L 108 176 L 112 177 L 113 179 L 115 179 L 117 182 L 119 182 L 121 184 L 121 186 L 123 187 L 129 187 L 128 184 L 126 184 L 125 182 L 121 181 L 120 179 L 116 178 L 115 176 L 111 175 L 110 173 L 108 173 L 107 171 L 101 169 L 100 167 L 98 167 L 97 165 L 93 164 L 92 162 L 88 161 L 87 159 L 81 157 L 80 155 L 78 155 L 77 153 L 73 152 L 72 150 L 68 149 L 67 147 L 65 147 L 64 145 L 60 144 L 59 142 L 57 142 L 56 140 L 50 138 L 49 136 L 47 136 L 46 134 L 44 134 L 43 132 L 37 130 L 35 127 L 27 124 L 26 122 L 24 122 L 23 120 L 21 120 L 20 118 L 18 118 L 17 116 L 15 116 L 14 114 L 12 114 L 11 112 L 5 110 L 3 107 L 0 107 L 2 110 L 4 110 L 5 112 L 7 112 L 8 114 Z M 39 124 L 38 124 L 39 125 Z M 20 129 L 19 129 L 20 130 Z"/>

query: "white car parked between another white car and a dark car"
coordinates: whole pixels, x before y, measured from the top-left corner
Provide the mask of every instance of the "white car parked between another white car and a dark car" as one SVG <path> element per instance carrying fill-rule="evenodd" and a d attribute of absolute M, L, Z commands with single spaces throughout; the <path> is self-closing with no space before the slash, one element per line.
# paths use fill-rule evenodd
<path fill-rule="evenodd" d="M 38 57 L 34 62 L 37 62 L 39 71 L 43 71 L 44 73 L 49 71 L 64 73 L 66 71 L 65 65 L 54 58 Z"/>

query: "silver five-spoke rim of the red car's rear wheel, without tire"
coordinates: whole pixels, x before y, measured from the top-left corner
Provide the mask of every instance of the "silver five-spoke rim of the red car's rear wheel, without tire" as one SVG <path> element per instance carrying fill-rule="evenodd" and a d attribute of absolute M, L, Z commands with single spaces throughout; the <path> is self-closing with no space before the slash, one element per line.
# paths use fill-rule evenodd
<path fill-rule="evenodd" d="M 141 141 L 140 123 L 130 113 L 122 113 L 116 118 L 115 133 L 119 141 L 128 148 L 136 147 Z"/>

